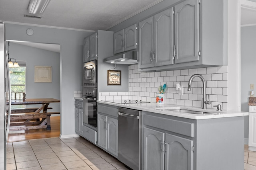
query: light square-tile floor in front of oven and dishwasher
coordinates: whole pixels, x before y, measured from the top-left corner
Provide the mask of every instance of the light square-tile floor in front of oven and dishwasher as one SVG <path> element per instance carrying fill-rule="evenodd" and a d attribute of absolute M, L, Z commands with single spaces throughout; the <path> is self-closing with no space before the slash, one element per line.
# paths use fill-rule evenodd
<path fill-rule="evenodd" d="M 6 170 L 128 170 L 81 137 L 8 143 L 6 157 Z"/>

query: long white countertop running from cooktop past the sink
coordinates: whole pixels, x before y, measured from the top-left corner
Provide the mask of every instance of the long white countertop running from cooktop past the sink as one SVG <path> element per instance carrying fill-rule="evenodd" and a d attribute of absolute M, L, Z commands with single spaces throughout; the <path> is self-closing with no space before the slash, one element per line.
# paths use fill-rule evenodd
<path fill-rule="evenodd" d="M 171 104 L 164 104 L 164 105 L 157 105 L 156 103 L 144 103 L 144 104 L 118 104 L 113 103 L 114 101 L 97 101 L 98 103 L 102 104 L 108 104 L 112 106 L 118 106 L 118 107 L 126 107 L 130 109 L 137 109 L 142 111 L 149 111 L 159 114 L 165 114 L 165 115 L 172 115 L 177 117 L 184 117 L 188 119 L 214 119 L 214 118 L 223 118 L 223 117 L 238 117 L 238 116 L 247 116 L 249 115 L 248 112 L 242 112 L 242 111 L 216 111 L 216 109 L 201 109 L 199 107 L 189 107 L 189 106 L 180 106 L 180 105 L 171 105 Z M 162 109 L 160 109 L 162 108 Z M 206 114 L 193 114 L 193 113 L 182 113 L 177 111 L 170 111 L 167 109 L 192 109 L 194 111 L 207 111 L 210 113 Z"/>

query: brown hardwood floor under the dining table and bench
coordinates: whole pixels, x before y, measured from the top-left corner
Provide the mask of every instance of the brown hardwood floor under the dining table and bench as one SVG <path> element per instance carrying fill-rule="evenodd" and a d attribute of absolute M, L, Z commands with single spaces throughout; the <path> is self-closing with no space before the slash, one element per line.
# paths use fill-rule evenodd
<path fill-rule="evenodd" d="M 24 131 L 10 131 L 8 136 L 8 142 L 17 142 L 50 137 L 60 137 L 60 116 L 51 116 L 51 130 L 31 129 Z"/>

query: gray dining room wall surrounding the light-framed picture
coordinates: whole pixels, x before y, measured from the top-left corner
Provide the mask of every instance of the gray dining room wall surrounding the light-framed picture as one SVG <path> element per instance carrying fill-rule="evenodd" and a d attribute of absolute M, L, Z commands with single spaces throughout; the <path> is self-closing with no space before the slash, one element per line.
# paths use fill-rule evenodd
<path fill-rule="evenodd" d="M 26 61 L 26 97 L 60 100 L 60 53 L 10 42 L 9 54 L 17 61 Z M 34 82 L 35 66 L 52 66 L 52 82 Z M 26 107 L 37 107 L 28 105 Z M 40 107 L 40 106 L 38 106 Z M 60 111 L 59 103 L 51 103 L 53 112 Z"/>

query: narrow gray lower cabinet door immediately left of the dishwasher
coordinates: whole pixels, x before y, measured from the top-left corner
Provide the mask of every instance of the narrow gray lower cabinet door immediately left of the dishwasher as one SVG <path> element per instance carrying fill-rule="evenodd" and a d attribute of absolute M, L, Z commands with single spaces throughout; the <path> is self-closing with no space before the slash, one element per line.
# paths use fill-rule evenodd
<path fill-rule="evenodd" d="M 112 117 L 107 119 L 107 150 L 118 156 L 118 120 Z"/>

